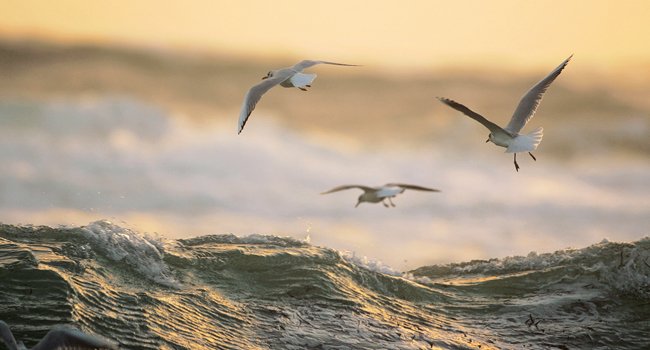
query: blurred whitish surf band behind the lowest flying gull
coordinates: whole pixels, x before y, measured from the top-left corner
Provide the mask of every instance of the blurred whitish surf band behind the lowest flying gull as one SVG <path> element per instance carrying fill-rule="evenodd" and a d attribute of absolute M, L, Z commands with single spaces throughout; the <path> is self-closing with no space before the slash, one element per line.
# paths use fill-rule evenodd
<path fill-rule="evenodd" d="M 0 98 L 0 218 L 50 226 L 109 218 L 170 238 L 215 228 L 309 234 L 400 270 L 604 237 L 630 242 L 650 227 L 647 161 L 581 153 L 566 163 L 541 153 L 543 162 L 520 160 L 522 175 L 498 150 L 355 149 L 270 118 L 256 124 L 237 135 L 232 123 L 192 124 L 130 96 Z M 391 210 L 319 195 L 387 182 L 442 193 L 412 193 Z"/>

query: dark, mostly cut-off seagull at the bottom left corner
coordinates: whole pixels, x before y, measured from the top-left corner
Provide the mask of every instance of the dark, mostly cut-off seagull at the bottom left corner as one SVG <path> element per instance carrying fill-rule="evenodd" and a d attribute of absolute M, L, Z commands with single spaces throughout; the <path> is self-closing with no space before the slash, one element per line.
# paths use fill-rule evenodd
<path fill-rule="evenodd" d="M 9 326 L 0 321 L 0 339 L 2 339 L 9 350 L 27 350 L 25 344 L 16 342 Z M 102 338 L 85 334 L 75 328 L 56 327 L 45 335 L 31 350 L 116 350 L 117 346 Z"/>

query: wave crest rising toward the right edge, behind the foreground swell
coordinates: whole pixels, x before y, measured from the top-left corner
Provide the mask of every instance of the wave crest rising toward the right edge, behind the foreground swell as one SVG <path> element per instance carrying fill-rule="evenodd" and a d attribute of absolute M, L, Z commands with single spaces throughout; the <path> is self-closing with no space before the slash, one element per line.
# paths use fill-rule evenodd
<path fill-rule="evenodd" d="M 598 283 L 609 291 L 650 298 L 650 238 L 633 243 L 603 240 L 582 249 L 563 249 L 553 253 L 513 256 L 503 259 L 473 260 L 465 263 L 433 265 L 410 273 L 415 279 L 434 283 L 454 280 L 467 285 L 480 283 L 526 285 L 566 283 L 581 279 Z M 522 288 L 524 288 L 522 286 Z"/>

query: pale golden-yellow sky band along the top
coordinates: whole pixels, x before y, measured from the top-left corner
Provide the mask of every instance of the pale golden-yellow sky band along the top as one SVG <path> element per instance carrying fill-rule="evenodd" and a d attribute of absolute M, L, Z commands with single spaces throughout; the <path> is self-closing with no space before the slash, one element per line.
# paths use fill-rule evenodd
<path fill-rule="evenodd" d="M 3 0 L 0 35 L 429 68 L 650 62 L 650 1 Z"/>

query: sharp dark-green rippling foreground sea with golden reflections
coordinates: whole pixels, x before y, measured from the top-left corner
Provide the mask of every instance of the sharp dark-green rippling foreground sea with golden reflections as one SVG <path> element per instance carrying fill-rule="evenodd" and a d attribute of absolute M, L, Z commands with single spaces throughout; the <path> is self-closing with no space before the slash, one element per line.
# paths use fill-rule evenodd
<path fill-rule="evenodd" d="M 124 349 L 639 349 L 650 238 L 386 266 L 271 235 L 169 240 L 97 221 L 0 225 L 0 319 Z"/>

